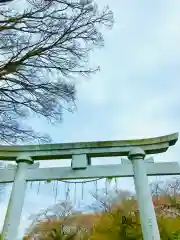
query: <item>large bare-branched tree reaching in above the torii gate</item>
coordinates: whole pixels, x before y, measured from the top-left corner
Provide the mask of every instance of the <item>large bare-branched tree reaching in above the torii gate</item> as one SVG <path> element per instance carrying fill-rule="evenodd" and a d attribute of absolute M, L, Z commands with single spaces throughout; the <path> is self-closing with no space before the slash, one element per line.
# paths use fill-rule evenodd
<path fill-rule="evenodd" d="M 75 80 L 98 70 L 89 53 L 103 46 L 113 14 L 92 1 L 28 0 L 23 11 L 0 6 L 0 140 L 47 140 L 26 120 L 55 123 L 75 106 Z"/>

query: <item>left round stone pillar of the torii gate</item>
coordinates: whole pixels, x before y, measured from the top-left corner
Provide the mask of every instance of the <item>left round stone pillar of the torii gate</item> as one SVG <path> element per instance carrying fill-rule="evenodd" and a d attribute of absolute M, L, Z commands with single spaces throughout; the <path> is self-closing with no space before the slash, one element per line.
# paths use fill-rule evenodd
<path fill-rule="evenodd" d="M 2 240 L 16 240 L 26 192 L 26 172 L 33 160 L 29 156 L 16 159 L 17 170 L 4 221 Z"/>

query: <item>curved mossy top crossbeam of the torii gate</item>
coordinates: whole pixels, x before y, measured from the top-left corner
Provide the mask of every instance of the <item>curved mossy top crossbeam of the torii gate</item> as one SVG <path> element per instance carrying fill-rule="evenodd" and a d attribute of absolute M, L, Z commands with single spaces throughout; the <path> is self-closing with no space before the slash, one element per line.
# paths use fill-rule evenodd
<path fill-rule="evenodd" d="M 140 147 L 146 154 L 155 154 L 165 152 L 177 140 L 178 133 L 174 133 L 138 140 L 0 146 L 0 159 L 12 161 L 22 154 L 33 160 L 68 159 L 76 154 L 86 154 L 87 157 L 128 156 L 133 147 Z"/>

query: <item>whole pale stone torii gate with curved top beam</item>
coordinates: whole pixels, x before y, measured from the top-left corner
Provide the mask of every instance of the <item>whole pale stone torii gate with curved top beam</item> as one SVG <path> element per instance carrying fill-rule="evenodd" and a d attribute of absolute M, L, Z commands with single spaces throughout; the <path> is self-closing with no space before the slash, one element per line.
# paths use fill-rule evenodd
<path fill-rule="evenodd" d="M 0 159 L 17 163 L 15 168 L 0 170 L 0 183 L 13 182 L 2 239 L 17 238 L 27 181 L 134 177 L 144 239 L 160 240 L 147 175 L 180 175 L 180 166 L 143 160 L 148 154 L 165 152 L 177 140 L 178 133 L 139 140 L 0 146 Z M 132 164 L 91 165 L 92 157 L 113 156 L 127 156 Z M 71 167 L 38 168 L 33 164 L 35 160 L 69 158 Z"/>

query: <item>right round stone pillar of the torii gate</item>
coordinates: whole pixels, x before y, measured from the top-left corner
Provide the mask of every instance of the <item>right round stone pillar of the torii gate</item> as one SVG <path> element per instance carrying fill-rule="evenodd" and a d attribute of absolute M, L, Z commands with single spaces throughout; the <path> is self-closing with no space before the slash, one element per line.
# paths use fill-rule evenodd
<path fill-rule="evenodd" d="M 144 240 L 160 240 L 144 157 L 145 152 L 140 147 L 132 148 L 129 153 L 129 159 L 132 161 L 134 171 L 134 184 L 140 211 L 141 227 Z"/>

